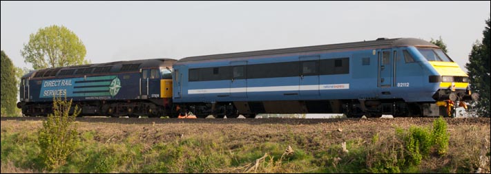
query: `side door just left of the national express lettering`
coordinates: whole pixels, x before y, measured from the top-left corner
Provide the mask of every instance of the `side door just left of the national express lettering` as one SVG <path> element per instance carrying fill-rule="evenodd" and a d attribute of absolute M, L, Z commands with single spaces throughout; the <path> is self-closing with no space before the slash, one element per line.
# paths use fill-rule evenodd
<path fill-rule="evenodd" d="M 319 96 L 319 56 L 300 57 L 300 96 Z"/>

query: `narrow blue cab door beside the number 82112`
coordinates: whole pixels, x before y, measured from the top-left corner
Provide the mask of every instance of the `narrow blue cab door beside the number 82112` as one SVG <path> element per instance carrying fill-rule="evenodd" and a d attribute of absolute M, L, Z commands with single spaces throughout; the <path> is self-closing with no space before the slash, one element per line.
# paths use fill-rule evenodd
<path fill-rule="evenodd" d="M 381 50 L 378 52 L 378 87 L 391 87 L 394 69 L 394 58 L 390 54 L 390 49 Z"/>

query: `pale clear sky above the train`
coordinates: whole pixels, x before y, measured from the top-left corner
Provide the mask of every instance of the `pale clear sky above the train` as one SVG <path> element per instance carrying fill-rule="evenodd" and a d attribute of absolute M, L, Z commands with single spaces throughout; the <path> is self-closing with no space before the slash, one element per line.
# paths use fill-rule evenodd
<path fill-rule="evenodd" d="M 50 25 L 73 31 L 92 63 L 441 37 L 465 70 L 490 11 L 490 1 L 1 1 L 0 39 L 32 69 L 20 52 Z"/>

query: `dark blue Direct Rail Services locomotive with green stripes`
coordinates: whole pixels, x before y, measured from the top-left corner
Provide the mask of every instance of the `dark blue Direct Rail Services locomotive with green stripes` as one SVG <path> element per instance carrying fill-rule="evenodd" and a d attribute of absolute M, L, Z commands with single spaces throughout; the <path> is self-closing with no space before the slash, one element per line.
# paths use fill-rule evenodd
<path fill-rule="evenodd" d="M 25 116 L 52 113 L 53 96 L 66 96 L 80 116 L 149 116 L 172 108 L 172 65 L 156 58 L 40 69 L 21 78 L 17 107 Z"/>

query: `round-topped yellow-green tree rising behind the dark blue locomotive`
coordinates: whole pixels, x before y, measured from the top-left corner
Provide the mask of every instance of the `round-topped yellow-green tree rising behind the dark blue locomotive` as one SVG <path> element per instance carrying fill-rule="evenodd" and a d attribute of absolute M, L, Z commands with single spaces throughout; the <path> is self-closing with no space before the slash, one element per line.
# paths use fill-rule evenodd
<path fill-rule="evenodd" d="M 32 63 L 34 69 L 82 65 L 89 62 L 84 43 L 64 26 L 51 25 L 30 34 L 29 43 L 24 44 L 21 55 L 24 62 Z"/>

